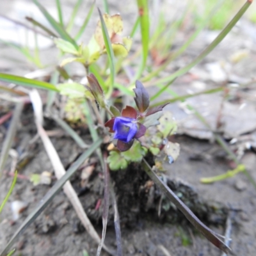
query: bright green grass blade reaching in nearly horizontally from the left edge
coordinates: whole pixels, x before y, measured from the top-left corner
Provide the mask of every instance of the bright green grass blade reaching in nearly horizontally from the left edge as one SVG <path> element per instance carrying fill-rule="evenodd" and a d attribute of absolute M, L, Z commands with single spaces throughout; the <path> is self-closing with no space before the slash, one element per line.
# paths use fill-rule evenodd
<path fill-rule="evenodd" d="M 58 89 L 53 84 L 35 79 L 29 79 L 22 76 L 0 73 L 0 81 L 58 92 Z"/>

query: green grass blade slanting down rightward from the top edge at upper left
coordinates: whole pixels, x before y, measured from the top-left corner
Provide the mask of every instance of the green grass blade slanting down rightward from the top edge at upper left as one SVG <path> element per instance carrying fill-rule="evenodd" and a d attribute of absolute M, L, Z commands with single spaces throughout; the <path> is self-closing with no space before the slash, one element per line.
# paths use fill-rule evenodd
<path fill-rule="evenodd" d="M 33 0 L 33 2 L 36 4 L 36 6 L 39 8 L 39 10 L 44 14 L 45 19 L 48 20 L 48 22 L 51 24 L 52 28 L 55 29 L 55 31 L 63 38 L 64 40 L 70 42 L 76 49 L 78 50 L 79 47 L 76 44 L 76 41 L 68 35 L 67 31 L 58 23 L 56 20 L 53 19 L 53 17 L 47 12 L 47 10 L 40 4 L 37 0 Z"/>

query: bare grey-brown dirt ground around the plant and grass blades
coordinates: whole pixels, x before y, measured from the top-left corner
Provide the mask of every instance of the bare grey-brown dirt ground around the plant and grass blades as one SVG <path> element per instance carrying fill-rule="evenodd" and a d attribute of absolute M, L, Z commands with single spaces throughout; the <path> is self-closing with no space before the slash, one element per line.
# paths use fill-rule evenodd
<path fill-rule="evenodd" d="M 29 1 L 15 1 L 17 5 L 6 6 L 6 13 L 12 17 L 17 6 L 24 6 L 24 3 L 30 4 Z M 134 6 L 128 6 L 124 10 L 124 6 L 116 6 L 114 1 L 111 3 L 109 8 L 113 10 L 113 13 L 126 11 L 125 24 L 129 24 L 127 20 L 130 18 L 134 19 L 132 15 Z M 47 1 L 47 4 L 53 8 L 50 1 Z M 65 5 L 67 12 L 70 6 L 71 2 L 67 1 Z M 3 8 L 0 10 L 3 13 Z M 256 180 L 256 90 L 255 83 L 246 85 L 253 78 L 255 79 L 255 35 L 255 24 L 251 24 L 246 19 L 242 20 L 239 26 L 202 63 L 193 68 L 189 74 L 177 79 L 172 89 L 180 95 L 185 95 L 227 83 L 231 85 L 230 97 L 225 100 L 222 109 L 223 94 L 221 93 L 192 97 L 186 102 L 200 111 L 213 131 L 216 130 L 218 120 L 221 121 L 219 132 L 227 141 L 237 139 L 237 142 L 230 147 L 241 157 L 241 163 L 245 164 L 246 170 Z M 215 32 L 203 31 L 186 54 L 172 63 L 161 76 L 172 74 L 174 70 L 193 60 L 214 36 L 216 36 Z M 183 40 L 186 40 L 186 35 L 181 32 L 177 38 L 177 45 L 182 44 Z M 136 40 L 134 41 L 136 44 Z M 246 51 L 246 56 L 237 63 L 232 62 L 232 56 L 241 54 L 241 51 Z M 20 62 L 15 62 L 12 58 L 5 59 L 10 54 L 12 58 L 13 56 L 19 58 Z M 45 47 L 45 59 L 49 57 L 49 61 L 54 62 L 54 54 L 52 49 Z M 3 47 L 0 49 L 0 56 L 0 72 L 24 75 L 32 71 L 31 67 L 24 64 L 22 57 L 13 49 Z M 81 76 L 80 70 L 76 70 L 77 76 Z M 244 84 L 244 87 L 237 88 L 234 84 Z M 153 95 L 156 88 L 149 88 L 149 92 Z M 164 99 L 170 99 L 170 95 L 164 93 L 159 100 Z M 6 102 L 3 101 L 0 115 L 4 114 L 4 106 Z M 177 161 L 165 165 L 168 185 L 206 225 L 223 236 L 227 228 L 230 230 L 231 255 L 254 256 L 256 253 L 256 189 L 244 173 L 220 182 L 202 184 L 200 178 L 225 173 L 234 167 L 234 163 L 228 158 L 223 148 L 213 140 L 212 131 L 205 129 L 195 115 L 184 108 L 184 104 L 170 104 L 164 110 L 172 111 L 177 120 L 179 131 L 172 140 L 180 143 L 181 148 Z M 3 145 L 7 129 L 8 122 L 0 129 L 0 147 Z M 45 120 L 45 129 L 58 131 L 59 135 L 52 136 L 51 140 L 63 165 L 67 168 L 83 150 L 52 120 Z M 84 141 L 90 141 L 86 129 L 80 128 L 79 133 Z M 29 154 L 29 163 L 20 171 L 25 177 L 29 177 L 31 173 L 42 173 L 45 170 L 52 172 L 52 166 L 42 142 L 39 138 L 33 140 L 35 136 L 33 110 L 31 106 L 26 106 L 12 147 L 17 152 L 26 151 Z M 33 143 L 30 143 L 31 140 Z M 249 149 L 248 145 L 250 145 Z M 11 159 L 6 165 L 6 171 L 10 170 L 10 163 Z M 97 232 L 101 234 L 102 204 L 99 209 L 96 207 L 103 198 L 103 182 L 99 173 L 100 168 L 97 166 L 90 182 L 83 189 L 81 189 L 80 173 L 77 172 L 71 181 L 86 214 Z M 147 204 L 148 191 L 141 190 L 141 186 L 146 184 L 148 178 L 138 166 L 132 165 L 128 170 L 113 172 L 111 177 L 116 184 L 124 255 L 222 255 L 218 248 L 200 235 L 182 213 L 173 205 L 168 204 L 166 200 L 163 200 L 161 204 L 159 216 L 161 195 L 157 188 L 154 191 L 153 202 L 150 205 Z M 8 175 L 1 177 L 0 202 L 11 183 L 12 178 Z M 28 207 L 22 212 L 19 220 L 14 222 L 10 202 L 6 205 L 0 218 L 0 248 L 8 242 L 29 212 L 49 191 L 49 188 L 51 187 L 46 185 L 33 186 L 29 180 L 18 179 L 10 202 L 22 200 L 28 203 Z M 227 227 L 228 221 L 231 221 L 231 224 Z M 116 246 L 112 209 L 109 214 L 106 244 L 111 248 Z M 95 255 L 97 245 L 84 230 L 72 205 L 61 191 L 35 223 L 20 237 L 16 244 L 15 255 L 83 255 L 83 250 L 86 250 L 89 255 Z M 107 255 L 107 253 L 102 252 L 102 255 Z"/>

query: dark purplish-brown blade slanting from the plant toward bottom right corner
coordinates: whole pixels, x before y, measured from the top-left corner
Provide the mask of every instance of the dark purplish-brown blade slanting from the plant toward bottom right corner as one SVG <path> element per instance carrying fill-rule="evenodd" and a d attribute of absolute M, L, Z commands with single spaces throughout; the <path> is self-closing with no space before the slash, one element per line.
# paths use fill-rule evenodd
<path fill-rule="evenodd" d="M 225 253 L 231 252 L 231 249 L 223 243 L 211 228 L 208 228 L 200 221 L 195 214 L 180 200 L 180 198 L 173 193 L 172 189 L 168 188 L 166 184 L 156 175 L 152 170 L 150 165 L 145 159 L 143 159 L 144 170 L 147 175 L 156 183 L 156 185 L 161 189 L 164 195 L 170 199 L 170 201 L 186 216 L 186 218 L 194 225 L 212 244 L 220 248 L 221 251 Z"/>

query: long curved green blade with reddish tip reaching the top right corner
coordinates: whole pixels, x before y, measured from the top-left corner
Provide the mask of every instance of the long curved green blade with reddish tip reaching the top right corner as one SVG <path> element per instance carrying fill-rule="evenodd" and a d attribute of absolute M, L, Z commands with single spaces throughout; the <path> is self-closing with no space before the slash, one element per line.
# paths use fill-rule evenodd
<path fill-rule="evenodd" d="M 241 7 L 239 12 L 235 15 L 235 17 L 228 23 L 225 29 L 221 31 L 220 35 L 218 35 L 214 41 L 198 56 L 193 60 L 189 65 L 186 65 L 184 68 L 180 68 L 177 70 L 177 72 L 174 72 L 171 76 L 163 77 L 161 79 L 158 79 L 154 83 L 168 83 L 169 81 L 172 81 L 173 79 L 182 76 L 186 72 L 188 72 L 191 68 L 193 68 L 196 64 L 200 63 L 200 61 L 204 60 L 205 56 L 207 56 L 220 42 L 227 36 L 227 34 L 230 32 L 232 28 L 236 25 L 237 21 L 241 19 L 244 12 L 249 8 L 250 4 L 252 4 L 252 0 L 246 1 L 246 3 Z"/>

